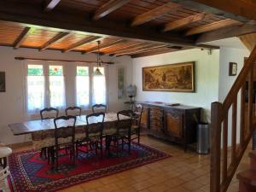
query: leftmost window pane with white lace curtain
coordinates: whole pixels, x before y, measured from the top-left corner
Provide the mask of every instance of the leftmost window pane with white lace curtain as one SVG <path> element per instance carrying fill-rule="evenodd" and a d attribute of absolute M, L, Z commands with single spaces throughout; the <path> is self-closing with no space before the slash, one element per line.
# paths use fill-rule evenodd
<path fill-rule="evenodd" d="M 33 113 L 44 108 L 44 67 L 27 65 L 27 111 Z"/>

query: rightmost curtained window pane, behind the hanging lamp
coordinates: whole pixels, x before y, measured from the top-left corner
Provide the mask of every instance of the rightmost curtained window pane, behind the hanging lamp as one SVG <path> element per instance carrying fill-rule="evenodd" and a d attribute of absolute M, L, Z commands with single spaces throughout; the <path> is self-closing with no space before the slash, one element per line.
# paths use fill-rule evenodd
<path fill-rule="evenodd" d="M 93 71 L 97 67 L 93 67 Z M 105 77 L 105 68 L 98 67 L 102 75 L 93 75 L 93 90 L 92 90 L 92 104 L 102 103 L 106 104 L 106 77 Z"/>

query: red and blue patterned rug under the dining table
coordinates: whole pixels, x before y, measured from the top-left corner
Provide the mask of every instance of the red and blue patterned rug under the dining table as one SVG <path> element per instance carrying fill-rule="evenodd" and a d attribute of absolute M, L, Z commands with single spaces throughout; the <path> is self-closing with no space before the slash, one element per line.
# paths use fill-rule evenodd
<path fill-rule="evenodd" d="M 64 153 L 64 152 L 63 152 Z M 73 166 L 68 155 L 60 158 L 59 171 L 56 172 L 39 156 L 39 151 L 23 151 L 9 157 L 12 191 L 58 191 L 116 172 L 143 166 L 156 160 L 170 157 L 169 154 L 149 148 L 143 144 L 131 144 L 131 154 L 127 151 L 114 153 L 102 159 L 94 153 L 81 154 Z"/>

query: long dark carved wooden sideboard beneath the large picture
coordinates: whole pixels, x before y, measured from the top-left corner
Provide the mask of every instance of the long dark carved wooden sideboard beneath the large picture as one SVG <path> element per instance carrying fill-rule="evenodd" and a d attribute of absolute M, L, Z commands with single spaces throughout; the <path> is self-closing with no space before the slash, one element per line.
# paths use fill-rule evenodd
<path fill-rule="evenodd" d="M 201 119 L 201 108 L 138 103 L 143 104 L 142 131 L 154 137 L 182 143 L 185 151 L 189 143 L 196 142 L 196 124 Z"/>

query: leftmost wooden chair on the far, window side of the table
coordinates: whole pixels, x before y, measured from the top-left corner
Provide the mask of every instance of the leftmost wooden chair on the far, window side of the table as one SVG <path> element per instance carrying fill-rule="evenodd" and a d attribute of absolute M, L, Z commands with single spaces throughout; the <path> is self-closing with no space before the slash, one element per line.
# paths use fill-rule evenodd
<path fill-rule="evenodd" d="M 59 115 L 59 110 L 57 108 L 44 108 L 40 111 L 41 119 L 53 119 L 57 118 Z M 41 148 L 40 157 L 48 158 L 48 148 Z"/>

